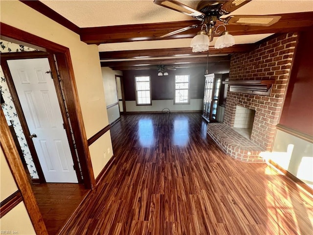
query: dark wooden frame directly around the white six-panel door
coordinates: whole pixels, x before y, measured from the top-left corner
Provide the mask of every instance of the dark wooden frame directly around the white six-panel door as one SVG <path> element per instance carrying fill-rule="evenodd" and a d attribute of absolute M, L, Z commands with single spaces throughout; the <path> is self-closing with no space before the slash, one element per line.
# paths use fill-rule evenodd
<path fill-rule="evenodd" d="M 16 111 L 18 114 L 18 117 L 21 121 L 21 126 L 22 126 L 22 130 L 24 132 L 25 138 L 26 138 L 26 142 L 29 146 L 29 151 L 31 153 L 31 156 L 33 158 L 35 167 L 37 169 L 37 173 L 39 176 L 39 181 L 40 183 L 45 183 L 45 176 L 41 167 L 41 164 L 39 162 L 39 158 L 37 155 L 37 151 L 35 149 L 34 143 L 33 141 L 30 140 L 30 138 L 28 138 L 28 136 L 31 135 L 27 122 L 26 122 L 26 118 L 24 116 L 23 110 L 22 110 L 22 105 L 19 99 L 19 96 L 17 94 L 16 88 L 15 88 L 15 84 L 13 82 L 13 78 L 12 78 L 12 74 L 11 71 L 9 69 L 8 60 L 18 60 L 18 59 L 37 59 L 37 58 L 47 58 L 48 62 L 49 62 L 49 67 L 51 70 L 51 76 L 53 79 L 53 83 L 54 83 L 54 87 L 55 87 L 55 91 L 57 94 L 57 99 L 59 102 L 59 106 L 60 106 L 60 110 L 61 110 L 61 114 L 62 114 L 62 118 L 63 118 L 63 123 L 64 123 L 64 128 L 67 134 L 67 141 L 69 144 L 69 149 L 71 152 L 71 156 L 73 159 L 73 164 L 74 164 L 74 168 L 75 168 L 75 172 L 76 172 L 76 177 L 78 180 L 78 183 L 82 184 L 83 180 L 79 171 L 79 164 L 78 164 L 78 160 L 77 160 L 77 156 L 76 156 L 76 152 L 75 152 L 75 147 L 74 147 L 74 142 L 72 139 L 72 135 L 71 135 L 71 131 L 70 131 L 70 126 L 68 123 L 68 119 L 67 119 L 67 112 L 66 112 L 66 107 L 65 107 L 65 103 L 63 100 L 63 96 L 62 96 L 62 91 L 61 91 L 61 87 L 60 87 L 60 83 L 59 83 L 59 79 L 58 79 L 58 74 L 57 74 L 57 69 L 54 63 L 54 59 L 53 59 L 53 55 L 48 53 L 48 52 L 42 52 L 42 51 L 26 51 L 26 52 L 7 52 L 7 53 L 1 53 L 1 66 L 2 66 L 2 70 L 3 73 L 5 75 L 9 90 L 10 90 L 10 94 L 13 97 L 13 103 L 16 107 Z"/>

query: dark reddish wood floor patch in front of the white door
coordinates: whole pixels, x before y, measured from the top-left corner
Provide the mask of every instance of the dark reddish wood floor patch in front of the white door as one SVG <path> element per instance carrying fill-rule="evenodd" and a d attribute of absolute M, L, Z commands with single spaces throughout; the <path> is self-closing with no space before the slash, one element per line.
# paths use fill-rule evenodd
<path fill-rule="evenodd" d="M 81 184 L 47 183 L 32 185 L 49 235 L 65 225 L 89 189 Z"/>

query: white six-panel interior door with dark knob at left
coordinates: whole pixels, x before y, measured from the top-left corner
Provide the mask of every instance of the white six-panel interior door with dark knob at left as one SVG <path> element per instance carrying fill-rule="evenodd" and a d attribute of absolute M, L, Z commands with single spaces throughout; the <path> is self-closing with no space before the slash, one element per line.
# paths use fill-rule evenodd
<path fill-rule="evenodd" d="M 7 62 L 46 182 L 78 183 L 48 59 Z"/>

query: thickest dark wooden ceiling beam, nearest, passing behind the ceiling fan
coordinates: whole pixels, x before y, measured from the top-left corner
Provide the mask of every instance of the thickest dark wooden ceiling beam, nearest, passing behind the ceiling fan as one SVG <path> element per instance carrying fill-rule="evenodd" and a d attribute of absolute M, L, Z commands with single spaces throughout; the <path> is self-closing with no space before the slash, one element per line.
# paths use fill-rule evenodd
<path fill-rule="evenodd" d="M 287 13 L 281 15 L 281 19 L 270 26 L 253 26 L 229 24 L 227 31 L 232 35 L 286 33 L 305 30 L 313 26 L 313 12 Z M 199 24 L 199 21 L 180 21 L 155 24 L 130 24 L 104 27 L 81 28 L 81 41 L 87 44 L 120 43 L 133 41 L 167 40 L 177 38 L 192 38 L 200 30 L 190 29 L 166 38 L 159 36 L 172 32 L 179 28 Z M 217 22 L 217 24 L 221 24 Z"/>

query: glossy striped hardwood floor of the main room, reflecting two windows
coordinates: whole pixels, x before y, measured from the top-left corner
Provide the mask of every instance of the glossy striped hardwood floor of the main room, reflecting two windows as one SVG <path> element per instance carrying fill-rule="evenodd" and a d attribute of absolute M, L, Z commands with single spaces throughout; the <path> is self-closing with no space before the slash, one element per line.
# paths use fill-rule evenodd
<path fill-rule="evenodd" d="M 111 135 L 116 162 L 61 234 L 313 234 L 312 197 L 225 155 L 200 114 L 122 116 Z"/>

